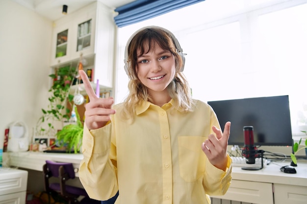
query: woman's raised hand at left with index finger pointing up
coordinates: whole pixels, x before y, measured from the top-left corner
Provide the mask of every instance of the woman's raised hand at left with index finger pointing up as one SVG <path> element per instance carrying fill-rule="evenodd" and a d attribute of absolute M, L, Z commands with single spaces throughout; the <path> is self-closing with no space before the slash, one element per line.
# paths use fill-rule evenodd
<path fill-rule="evenodd" d="M 112 97 L 98 98 L 88 80 L 87 74 L 83 70 L 79 70 L 79 74 L 90 99 L 90 102 L 85 105 L 84 122 L 89 130 L 101 128 L 110 120 L 110 114 L 115 113 L 115 110 L 111 109 L 114 99 Z"/>

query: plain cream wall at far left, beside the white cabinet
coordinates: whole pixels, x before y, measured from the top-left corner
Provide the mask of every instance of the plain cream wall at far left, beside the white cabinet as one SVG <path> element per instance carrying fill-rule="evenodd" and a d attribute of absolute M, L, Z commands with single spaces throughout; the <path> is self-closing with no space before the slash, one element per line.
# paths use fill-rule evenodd
<path fill-rule="evenodd" d="M 52 22 L 11 0 L 0 1 L 0 149 L 14 121 L 32 129 L 48 104 Z"/>

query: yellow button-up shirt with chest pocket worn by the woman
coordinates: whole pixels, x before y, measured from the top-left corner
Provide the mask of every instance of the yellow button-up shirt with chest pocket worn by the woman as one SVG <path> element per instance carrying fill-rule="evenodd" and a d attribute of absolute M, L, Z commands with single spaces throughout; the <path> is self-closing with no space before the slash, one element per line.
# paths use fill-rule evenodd
<path fill-rule="evenodd" d="M 116 204 L 208 204 L 209 195 L 224 195 L 231 159 L 223 171 L 206 158 L 201 145 L 220 125 L 209 105 L 195 102 L 188 113 L 170 109 L 173 100 L 144 102 L 132 123 L 119 104 L 106 126 L 85 126 L 79 178 L 88 195 L 107 200 L 119 190 Z"/>

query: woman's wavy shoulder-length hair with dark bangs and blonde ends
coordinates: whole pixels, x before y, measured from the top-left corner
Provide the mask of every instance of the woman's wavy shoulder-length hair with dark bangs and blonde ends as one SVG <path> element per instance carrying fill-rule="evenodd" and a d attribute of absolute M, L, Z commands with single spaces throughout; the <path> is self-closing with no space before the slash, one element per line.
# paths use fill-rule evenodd
<path fill-rule="evenodd" d="M 177 48 L 169 33 L 158 27 L 145 28 L 139 31 L 131 39 L 128 46 L 127 68 L 130 78 L 128 83 L 129 94 L 124 101 L 124 117 L 132 118 L 135 107 L 143 101 L 152 101 L 148 88 L 138 78 L 137 57 L 154 49 L 154 44 L 162 49 L 170 51 L 175 57 L 176 73 L 172 82 L 167 86 L 170 97 L 174 100 L 174 110 L 191 111 L 193 100 L 189 84 L 180 71 L 183 67 L 183 60 L 177 52 Z"/>

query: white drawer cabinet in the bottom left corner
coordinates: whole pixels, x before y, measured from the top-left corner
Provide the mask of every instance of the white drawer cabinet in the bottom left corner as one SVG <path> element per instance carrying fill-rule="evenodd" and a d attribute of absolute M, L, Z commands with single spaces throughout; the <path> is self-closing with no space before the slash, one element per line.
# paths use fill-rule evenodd
<path fill-rule="evenodd" d="M 26 204 L 28 172 L 0 168 L 0 204 Z"/>

